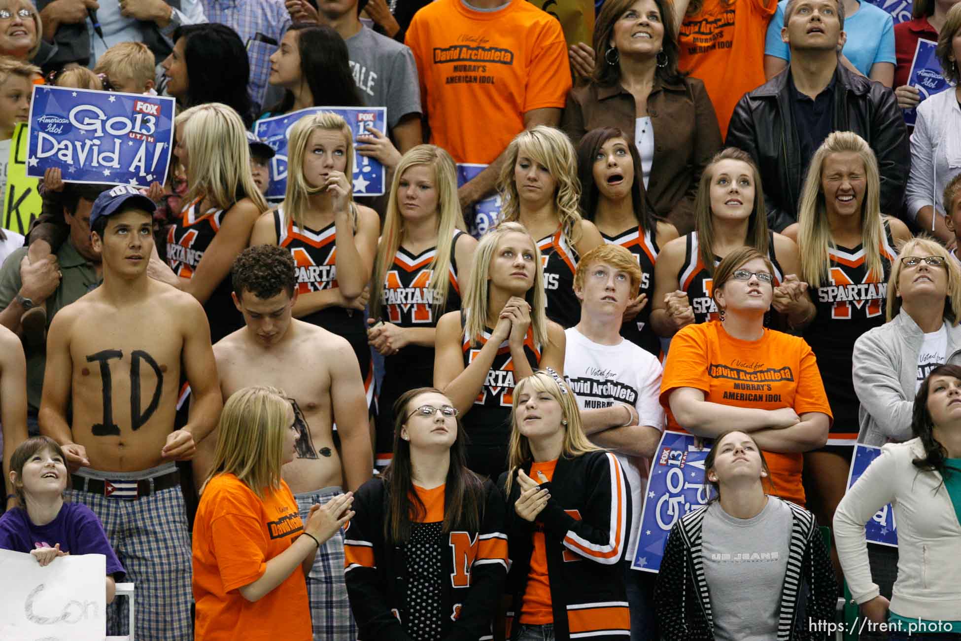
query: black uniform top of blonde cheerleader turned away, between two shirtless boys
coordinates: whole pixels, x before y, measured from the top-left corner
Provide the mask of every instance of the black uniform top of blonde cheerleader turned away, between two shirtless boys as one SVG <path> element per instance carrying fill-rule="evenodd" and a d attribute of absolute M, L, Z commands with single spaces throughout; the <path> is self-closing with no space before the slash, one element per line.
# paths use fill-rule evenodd
<path fill-rule="evenodd" d="M 207 210 L 200 214 L 197 211 L 199 205 L 200 199 L 197 199 L 186 207 L 180 217 L 174 220 L 174 224 L 167 229 L 167 264 L 175 274 L 185 279 L 193 278 L 200 259 L 204 258 L 204 252 L 213 242 L 213 236 L 217 234 L 223 224 L 224 216 L 230 209 Z M 244 325 L 243 316 L 234 307 L 234 300 L 231 298 L 233 290 L 231 277 L 228 274 L 217 284 L 207 303 L 204 304 L 204 311 L 207 312 L 207 320 L 210 324 L 211 343 L 217 342 Z"/>

